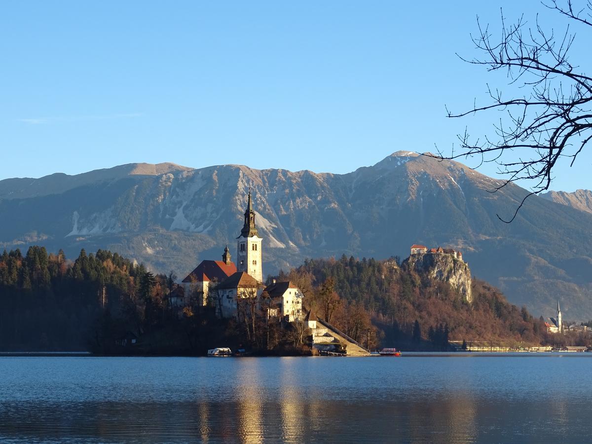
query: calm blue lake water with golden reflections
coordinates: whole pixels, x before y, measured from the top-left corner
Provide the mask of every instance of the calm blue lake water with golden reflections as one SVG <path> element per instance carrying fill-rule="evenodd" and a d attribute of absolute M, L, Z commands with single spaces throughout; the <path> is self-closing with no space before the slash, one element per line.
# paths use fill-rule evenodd
<path fill-rule="evenodd" d="M 0 442 L 590 442 L 592 353 L 0 358 Z"/>

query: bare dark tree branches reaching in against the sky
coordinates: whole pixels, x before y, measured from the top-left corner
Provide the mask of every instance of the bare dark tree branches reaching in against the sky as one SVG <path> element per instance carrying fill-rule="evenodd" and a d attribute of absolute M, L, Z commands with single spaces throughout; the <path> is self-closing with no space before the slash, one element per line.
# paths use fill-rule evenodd
<path fill-rule="evenodd" d="M 572 0 L 549 0 L 542 4 L 567 17 L 578 27 L 592 26 L 592 1 L 575 7 Z M 522 181 L 529 184 L 530 193 L 520 202 L 510 220 L 516 217 L 526 198 L 549 189 L 553 171 L 560 159 L 574 164 L 578 155 L 592 139 L 592 77 L 574 65 L 568 53 L 575 34 L 568 24 L 565 32 L 543 30 L 538 17 L 532 27 L 521 17 L 515 24 L 501 18 L 501 36 L 494 37 L 489 26 L 483 27 L 477 18 L 478 34 L 471 36 L 479 59 L 464 59 L 488 71 L 505 70 L 510 85 L 520 86 L 522 96 L 507 98 L 500 89 L 488 91 L 491 102 L 448 117 L 464 117 L 484 111 L 504 111 L 504 117 L 494 124 L 495 136 L 473 139 L 468 131 L 459 134 L 460 150 L 451 155 L 438 153 L 439 159 L 477 156 L 482 162 L 494 162 L 504 175 L 503 184 Z M 478 167 L 477 167 L 478 168 Z"/>

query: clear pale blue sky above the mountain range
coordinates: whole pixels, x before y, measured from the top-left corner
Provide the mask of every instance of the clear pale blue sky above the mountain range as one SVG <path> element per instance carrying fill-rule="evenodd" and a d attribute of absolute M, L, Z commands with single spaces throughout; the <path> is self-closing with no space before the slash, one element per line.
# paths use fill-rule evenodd
<path fill-rule="evenodd" d="M 475 17 L 497 30 L 500 7 L 567 23 L 536 1 L 3 2 L 0 179 L 131 162 L 344 173 L 446 150 L 489 129 L 445 105 L 504 84 L 455 56 L 479 55 Z M 560 165 L 552 188 L 592 188 L 590 163 Z"/>

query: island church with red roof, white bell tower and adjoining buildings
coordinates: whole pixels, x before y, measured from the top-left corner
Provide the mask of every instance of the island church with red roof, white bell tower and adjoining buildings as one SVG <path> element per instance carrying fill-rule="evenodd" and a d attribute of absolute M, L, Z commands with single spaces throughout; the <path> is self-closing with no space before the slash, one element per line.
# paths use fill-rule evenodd
<path fill-rule="evenodd" d="M 268 316 L 282 317 L 293 322 L 303 316 L 303 294 L 292 282 L 263 285 L 262 241 L 255 223 L 251 191 L 247 195 L 244 224 L 237 237 L 236 265 L 228 246 L 222 260 L 202 260 L 183 279 L 183 297 L 178 305 L 188 301 L 215 307 L 219 317 L 238 317 L 242 303 L 256 304 Z"/>

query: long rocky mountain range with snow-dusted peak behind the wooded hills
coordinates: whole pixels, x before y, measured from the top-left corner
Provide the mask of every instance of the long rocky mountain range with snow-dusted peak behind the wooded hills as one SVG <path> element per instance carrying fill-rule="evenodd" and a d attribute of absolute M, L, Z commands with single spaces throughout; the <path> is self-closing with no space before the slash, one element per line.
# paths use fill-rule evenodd
<path fill-rule="evenodd" d="M 242 227 L 252 187 L 264 274 L 304 258 L 388 258 L 409 246 L 461 249 L 472 272 L 548 315 L 592 318 L 592 214 L 543 198 L 458 162 L 397 152 L 374 166 L 336 175 L 255 170 L 240 165 L 189 169 L 122 165 L 78 176 L 0 181 L 0 247 L 44 244 L 67 255 L 108 248 L 179 276 L 218 259 Z"/>

